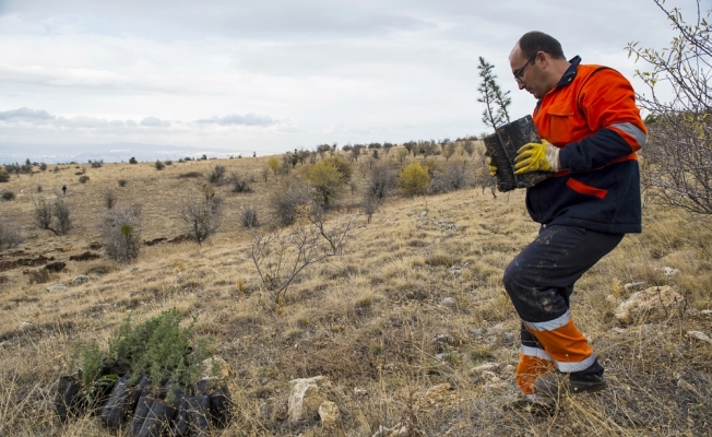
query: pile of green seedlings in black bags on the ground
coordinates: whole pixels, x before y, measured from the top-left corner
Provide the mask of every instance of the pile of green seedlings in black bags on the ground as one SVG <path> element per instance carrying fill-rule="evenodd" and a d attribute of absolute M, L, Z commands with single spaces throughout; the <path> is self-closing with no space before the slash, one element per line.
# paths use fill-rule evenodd
<path fill-rule="evenodd" d="M 230 394 L 211 368 L 211 341 L 192 339 L 193 324 L 179 328 L 180 319 L 175 309 L 135 327 L 127 319 L 108 353 L 76 346 L 70 363 L 80 370 L 59 379 L 60 418 L 100 415 L 111 428 L 130 426 L 132 437 L 206 436 L 227 426 Z"/>

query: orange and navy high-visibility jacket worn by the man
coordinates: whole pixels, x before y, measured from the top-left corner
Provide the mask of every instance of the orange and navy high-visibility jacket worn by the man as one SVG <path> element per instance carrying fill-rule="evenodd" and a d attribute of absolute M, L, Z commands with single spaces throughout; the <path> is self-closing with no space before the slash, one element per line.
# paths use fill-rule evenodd
<path fill-rule="evenodd" d="M 533 118 L 541 138 L 561 149 L 561 172 L 526 191 L 532 218 L 606 233 L 639 233 L 637 154 L 646 129 L 636 93 L 619 72 L 580 64 L 578 56 Z"/>

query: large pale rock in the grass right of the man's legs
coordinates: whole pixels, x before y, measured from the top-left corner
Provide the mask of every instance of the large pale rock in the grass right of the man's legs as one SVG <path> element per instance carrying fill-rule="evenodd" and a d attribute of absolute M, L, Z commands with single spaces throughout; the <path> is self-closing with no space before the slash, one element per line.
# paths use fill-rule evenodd
<path fill-rule="evenodd" d="M 638 318 L 661 318 L 672 308 L 681 306 L 685 298 L 669 285 L 655 286 L 633 293 L 616 308 L 614 315 L 621 323 L 632 323 Z"/>

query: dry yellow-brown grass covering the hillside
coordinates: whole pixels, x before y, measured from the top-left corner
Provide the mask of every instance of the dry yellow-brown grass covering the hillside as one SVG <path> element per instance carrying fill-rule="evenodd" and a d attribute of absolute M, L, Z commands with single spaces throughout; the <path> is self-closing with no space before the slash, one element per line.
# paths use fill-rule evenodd
<path fill-rule="evenodd" d="M 646 210 L 644 233 L 627 236 L 582 277 L 573 314 L 607 367 L 610 388 L 567 398 L 554 416 L 542 417 L 503 408 L 518 395 L 519 319 L 501 276 L 537 232 L 523 191 L 497 199 L 480 188 L 392 198 L 370 224 L 363 216 L 356 220 L 343 256 L 297 279 L 277 314 L 257 277 L 251 240 L 239 223 L 246 206 L 257 208 L 260 221 L 268 216 L 265 199 L 278 180 L 261 179 L 265 162 L 174 163 L 162 172 L 153 163 L 82 165 L 91 176 L 86 184 L 76 180 L 74 165 L 60 165 L 58 173 L 13 176 L 2 184 L 17 198 L 0 203 L 0 220 L 20 226 L 26 240 L 0 253 L 0 261 L 44 255 L 67 268 L 49 273 L 47 284 L 31 283 L 23 268 L 0 272 L 0 435 L 116 435 L 95 416 L 60 423 L 52 400 L 59 376 L 69 371 L 62 356 L 78 340 L 105 342 L 129 314 L 141 321 L 174 307 L 186 319 L 199 315 L 195 331 L 214 334 L 217 353 L 234 369 L 235 417 L 215 435 L 333 435 L 318 421 L 284 420 L 289 380 L 318 375 L 334 383 L 332 400 L 343 417 L 340 435 L 371 436 L 380 425 L 399 423 L 411 426 L 412 435 L 427 436 L 710 434 L 712 345 L 686 335 L 689 330 L 712 333 L 712 316 L 700 312 L 712 307 L 708 222 Z M 216 188 L 226 215 L 207 245 L 161 241 L 144 246 L 131 264 L 104 257 L 69 260 L 100 239 L 96 225 L 107 188 L 121 204 L 143 205 L 143 240 L 179 236 L 181 199 L 199 192 L 206 180 L 180 175 L 207 175 L 216 163 L 228 174 L 251 174 L 256 182 L 248 193 Z M 354 178 L 363 182 L 361 173 L 354 172 Z M 126 187 L 118 187 L 119 179 L 128 180 Z M 69 235 L 33 227 L 31 198 L 38 184 L 46 194 L 67 184 L 74 218 Z M 344 191 L 341 204 L 356 204 L 357 193 Z M 329 223 L 337 225 L 351 214 L 342 209 Z M 681 272 L 668 277 L 655 270 L 663 267 Z M 71 285 L 79 274 L 91 281 Z M 606 296 L 626 297 L 622 284 L 639 281 L 676 286 L 687 298 L 687 311 L 619 327 Z M 54 283 L 69 288 L 47 292 Z M 443 305 L 444 298 L 453 304 Z M 472 371 L 486 362 L 499 363 L 495 375 Z"/>

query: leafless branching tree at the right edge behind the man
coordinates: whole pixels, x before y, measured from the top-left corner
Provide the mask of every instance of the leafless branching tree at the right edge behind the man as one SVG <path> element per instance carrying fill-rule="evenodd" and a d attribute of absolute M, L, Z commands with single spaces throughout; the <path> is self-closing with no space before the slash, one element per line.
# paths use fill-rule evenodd
<path fill-rule="evenodd" d="M 712 27 L 710 12 L 686 23 L 683 12 L 654 0 L 677 36 L 667 48 L 627 47 L 651 71 L 636 74 L 648 86 L 638 104 L 649 115 L 646 144 L 641 149 L 641 182 L 652 201 L 699 214 L 712 214 Z M 663 92 L 661 92 L 663 91 Z M 669 96 L 669 97 L 668 97 Z M 648 200 L 651 200 L 649 198 Z"/>

